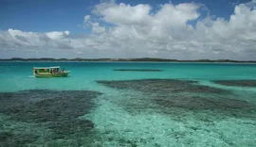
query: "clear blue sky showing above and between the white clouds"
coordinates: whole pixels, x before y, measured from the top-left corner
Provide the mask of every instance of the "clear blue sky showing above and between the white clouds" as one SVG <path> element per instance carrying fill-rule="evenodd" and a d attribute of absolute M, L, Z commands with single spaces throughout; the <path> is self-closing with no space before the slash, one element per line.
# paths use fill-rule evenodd
<path fill-rule="evenodd" d="M 118 0 L 117 3 L 150 4 L 157 10 L 159 4 L 168 0 Z M 210 10 L 216 17 L 229 19 L 234 11 L 234 4 L 248 2 L 248 0 L 173 0 L 174 5 L 179 3 L 200 3 Z M 1 0 L 0 1 L 0 29 L 9 28 L 23 31 L 47 32 L 69 30 L 73 34 L 88 33 L 83 28 L 84 15 L 91 13 L 91 7 L 100 3 L 99 0 Z M 201 11 L 201 18 L 207 11 Z M 200 19 L 200 18 L 199 18 Z M 194 24 L 194 23 L 192 23 Z"/>

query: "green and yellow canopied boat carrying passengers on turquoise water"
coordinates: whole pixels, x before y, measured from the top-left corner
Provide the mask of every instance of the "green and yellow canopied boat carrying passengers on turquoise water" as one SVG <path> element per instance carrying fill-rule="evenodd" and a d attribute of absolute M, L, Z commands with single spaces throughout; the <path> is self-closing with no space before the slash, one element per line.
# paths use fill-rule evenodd
<path fill-rule="evenodd" d="M 34 67 L 33 74 L 35 77 L 65 77 L 70 71 L 60 71 L 60 66 L 52 67 Z"/>

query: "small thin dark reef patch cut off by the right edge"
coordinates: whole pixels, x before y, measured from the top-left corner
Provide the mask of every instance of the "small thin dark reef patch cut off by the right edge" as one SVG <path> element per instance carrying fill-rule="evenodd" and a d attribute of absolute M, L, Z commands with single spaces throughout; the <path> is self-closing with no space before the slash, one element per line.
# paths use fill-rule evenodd
<path fill-rule="evenodd" d="M 256 80 L 214 80 L 212 82 L 224 86 L 256 87 Z"/>

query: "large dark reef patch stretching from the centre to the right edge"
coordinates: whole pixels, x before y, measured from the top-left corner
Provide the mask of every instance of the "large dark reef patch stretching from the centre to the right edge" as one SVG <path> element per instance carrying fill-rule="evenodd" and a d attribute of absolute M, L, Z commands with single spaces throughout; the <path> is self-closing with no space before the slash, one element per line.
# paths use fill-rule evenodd
<path fill-rule="evenodd" d="M 234 95 L 229 90 L 200 86 L 196 81 L 141 79 L 98 81 L 98 83 L 110 88 L 137 90 L 144 93 L 144 96 L 119 102 L 129 111 L 155 109 L 175 116 L 188 111 L 204 111 L 210 116 L 219 118 L 223 116 L 256 118 L 256 104 L 232 98 Z"/>

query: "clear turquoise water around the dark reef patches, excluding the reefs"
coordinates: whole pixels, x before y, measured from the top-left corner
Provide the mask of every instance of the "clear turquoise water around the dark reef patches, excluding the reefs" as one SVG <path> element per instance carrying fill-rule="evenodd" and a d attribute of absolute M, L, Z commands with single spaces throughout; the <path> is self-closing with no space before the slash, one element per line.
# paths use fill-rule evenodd
<path fill-rule="evenodd" d="M 71 71 L 64 78 L 35 78 L 33 66 L 64 67 Z M 115 72 L 114 69 L 157 69 L 163 72 Z M 141 90 L 115 89 L 98 80 L 135 79 L 195 80 L 199 85 L 231 94 L 208 94 L 210 98 L 236 99 L 256 106 L 256 88 L 219 85 L 212 80 L 255 80 L 256 64 L 233 63 L 131 63 L 131 62 L 0 62 L 0 92 L 21 90 L 93 90 L 102 94 L 93 99 L 95 106 L 80 119 L 94 127 L 88 132 L 52 138 L 45 123 L 22 122 L 0 115 L 0 135 L 6 143 L 19 143 L 9 134 L 40 134 L 25 146 L 255 146 L 255 109 L 247 117 L 226 115 L 219 109 L 161 107 L 152 102 L 152 94 Z M 150 87 L 150 85 L 148 85 Z M 156 91 L 157 93 L 157 91 Z M 174 93 L 162 93 L 174 94 Z M 177 93 L 180 97 L 202 93 Z M 2 96 L 2 100 L 5 97 Z M 0 101 L 1 101 L 0 99 Z M 26 101 L 26 97 L 20 97 Z M 201 102 L 201 101 L 200 101 Z M 79 103 L 79 102 L 78 102 Z M 244 107 L 242 106 L 242 109 Z M 224 108 L 225 109 L 225 108 Z M 252 112 L 254 111 L 254 112 Z M 177 114 L 178 112 L 178 114 Z M 244 112 L 244 111 L 243 111 Z M 247 111 L 245 111 L 247 112 Z M 244 112 L 244 113 L 245 113 Z M 170 114 L 172 113 L 172 114 Z M 175 113 L 175 114 L 174 114 Z M 230 113 L 230 112 L 229 112 Z M 26 115 L 26 114 L 24 114 Z M 212 116 L 213 115 L 213 116 Z M 215 115 L 215 116 L 214 116 Z M 209 121 L 202 121 L 208 119 Z M 8 132 L 8 134 L 3 134 Z M 10 137 L 11 136 L 11 137 Z M 0 142 L 1 143 L 1 142 Z"/>

